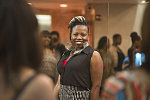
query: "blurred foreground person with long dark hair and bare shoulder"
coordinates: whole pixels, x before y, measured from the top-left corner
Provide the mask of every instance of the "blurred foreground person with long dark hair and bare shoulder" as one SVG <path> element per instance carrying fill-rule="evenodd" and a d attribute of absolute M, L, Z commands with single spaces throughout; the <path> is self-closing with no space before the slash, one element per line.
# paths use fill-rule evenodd
<path fill-rule="evenodd" d="M 0 0 L 0 100 L 54 100 L 53 82 L 38 70 L 38 22 L 25 0 Z"/>

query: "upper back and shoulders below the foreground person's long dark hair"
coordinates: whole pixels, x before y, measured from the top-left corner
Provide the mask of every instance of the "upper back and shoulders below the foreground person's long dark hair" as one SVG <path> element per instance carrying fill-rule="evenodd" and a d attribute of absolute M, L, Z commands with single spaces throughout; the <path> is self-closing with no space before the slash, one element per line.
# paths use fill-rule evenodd
<path fill-rule="evenodd" d="M 19 76 L 18 85 L 8 87 L 0 75 L 0 100 L 54 100 L 53 82 L 48 76 L 37 74 L 30 68 L 23 68 Z"/>

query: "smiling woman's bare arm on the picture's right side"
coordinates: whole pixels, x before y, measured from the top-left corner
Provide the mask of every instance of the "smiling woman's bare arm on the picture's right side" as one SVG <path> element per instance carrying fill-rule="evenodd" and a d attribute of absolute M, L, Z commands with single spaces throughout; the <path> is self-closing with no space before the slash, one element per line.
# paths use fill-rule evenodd
<path fill-rule="evenodd" d="M 91 58 L 90 73 L 92 81 L 90 100 L 99 100 L 99 89 L 103 75 L 103 62 L 97 51 L 94 51 Z"/>

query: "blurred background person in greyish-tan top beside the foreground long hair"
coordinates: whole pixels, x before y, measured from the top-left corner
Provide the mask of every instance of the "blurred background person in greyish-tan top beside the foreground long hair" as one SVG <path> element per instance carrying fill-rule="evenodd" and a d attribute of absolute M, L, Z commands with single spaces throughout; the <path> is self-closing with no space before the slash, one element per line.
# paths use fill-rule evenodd
<path fill-rule="evenodd" d="M 40 67 L 40 72 L 47 74 L 53 79 L 54 83 L 57 82 L 58 72 L 57 72 L 57 60 L 55 57 L 55 52 L 50 49 L 51 35 L 49 31 L 44 30 L 41 32 L 43 40 L 43 60 Z"/>

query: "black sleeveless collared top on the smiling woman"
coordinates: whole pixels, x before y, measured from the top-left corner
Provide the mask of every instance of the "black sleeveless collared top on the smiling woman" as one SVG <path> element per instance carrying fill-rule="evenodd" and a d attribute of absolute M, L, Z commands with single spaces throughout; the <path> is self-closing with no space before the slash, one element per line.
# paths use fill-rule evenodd
<path fill-rule="evenodd" d="M 63 61 L 69 57 L 70 52 L 66 51 L 58 62 L 60 83 L 91 89 L 90 62 L 94 49 L 87 46 L 80 54 L 72 56 L 63 67 Z"/>

